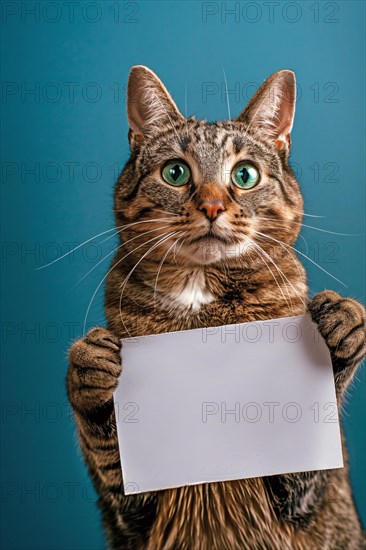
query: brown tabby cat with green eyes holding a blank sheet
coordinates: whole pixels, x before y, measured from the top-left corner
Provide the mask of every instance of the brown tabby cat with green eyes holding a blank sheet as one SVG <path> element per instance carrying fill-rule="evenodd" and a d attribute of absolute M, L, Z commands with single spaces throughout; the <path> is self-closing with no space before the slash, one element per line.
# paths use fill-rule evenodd
<path fill-rule="evenodd" d="M 309 300 L 292 248 L 303 216 L 288 163 L 295 90 L 294 73 L 279 71 L 236 119 L 212 123 L 184 117 L 148 68 L 131 70 L 108 329 L 73 344 L 67 375 L 110 548 L 364 547 L 347 466 L 123 494 L 112 400 L 120 338 L 308 310 L 332 356 L 339 405 L 364 356 L 364 308 L 330 290 Z"/>

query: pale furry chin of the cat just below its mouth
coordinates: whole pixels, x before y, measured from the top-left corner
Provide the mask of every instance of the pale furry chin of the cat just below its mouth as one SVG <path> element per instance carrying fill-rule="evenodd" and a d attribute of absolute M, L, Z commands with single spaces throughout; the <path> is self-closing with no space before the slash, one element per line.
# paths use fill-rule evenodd
<path fill-rule="evenodd" d="M 198 242 L 183 246 L 180 250 L 180 256 L 189 260 L 190 264 L 212 265 L 222 260 L 240 258 L 245 255 L 248 249 L 252 248 L 246 239 L 238 243 L 224 243 L 217 239 L 207 238 Z"/>

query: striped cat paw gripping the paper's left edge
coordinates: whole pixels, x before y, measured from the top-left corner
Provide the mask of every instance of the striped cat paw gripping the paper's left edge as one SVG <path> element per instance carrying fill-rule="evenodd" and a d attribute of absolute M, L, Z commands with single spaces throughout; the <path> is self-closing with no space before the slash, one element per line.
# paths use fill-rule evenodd
<path fill-rule="evenodd" d="M 121 342 L 104 328 L 92 329 L 69 353 L 67 391 L 77 410 L 95 410 L 110 402 L 121 373 Z"/>

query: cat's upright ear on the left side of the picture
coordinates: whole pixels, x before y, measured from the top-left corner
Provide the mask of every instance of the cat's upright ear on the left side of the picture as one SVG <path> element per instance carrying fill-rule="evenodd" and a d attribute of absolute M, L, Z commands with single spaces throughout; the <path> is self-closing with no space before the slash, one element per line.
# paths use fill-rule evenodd
<path fill-rule="evenodd" d="M 147 67 L 132 67 L 127 86 L 127 116 L 132 135 L 141 141 L 177 119 L 184 120 L 161 80 Z"/>

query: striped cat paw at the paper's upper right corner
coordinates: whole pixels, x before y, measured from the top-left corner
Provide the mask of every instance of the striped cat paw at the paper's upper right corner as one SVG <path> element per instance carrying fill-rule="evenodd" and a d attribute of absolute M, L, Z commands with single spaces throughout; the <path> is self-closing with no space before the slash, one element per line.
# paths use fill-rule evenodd
<path fill-rule="evenodd" d="M 365 308 L 351 298 L 324 290 L 308 304 L 331 354 L 341 361 L 361 361 L 366 352 Z"/>

